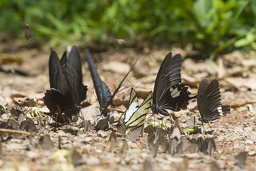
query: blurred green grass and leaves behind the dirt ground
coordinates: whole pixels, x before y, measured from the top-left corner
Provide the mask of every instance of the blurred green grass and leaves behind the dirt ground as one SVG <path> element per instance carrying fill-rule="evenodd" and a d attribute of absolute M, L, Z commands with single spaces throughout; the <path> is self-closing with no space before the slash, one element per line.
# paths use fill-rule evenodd
<path fill-rule="evenodd" d="M 33 41 L 47 46 L 111 46 L 125 39 L 149 47 L 178 44 L 207 58 L 239 49 L 256 49 L 256 1 L 250 0 L 1 0 L 0 36 L 25 39 L 28 23 Z"/>

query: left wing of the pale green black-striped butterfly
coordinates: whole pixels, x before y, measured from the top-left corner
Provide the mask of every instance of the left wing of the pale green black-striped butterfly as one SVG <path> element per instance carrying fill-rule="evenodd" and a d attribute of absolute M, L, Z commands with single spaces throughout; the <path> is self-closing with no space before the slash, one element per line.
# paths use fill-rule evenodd
<path fill-rule="evenodd" d="M 129 107 L 124 113 L 124 122 L 126 123 L 135 111 L 139 108 L 139 102 L 135 89 L 131 89 L 131 95 L 129 99 Z"/>

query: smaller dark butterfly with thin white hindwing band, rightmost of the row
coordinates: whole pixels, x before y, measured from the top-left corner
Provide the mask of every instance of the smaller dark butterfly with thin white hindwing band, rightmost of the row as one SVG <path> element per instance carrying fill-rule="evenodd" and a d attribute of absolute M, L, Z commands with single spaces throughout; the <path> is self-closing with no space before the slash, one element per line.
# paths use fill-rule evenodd
<path fill-rule="evenodd" d="M 201 117 L 198 119 L 202 123 L 209 123 L 226 116 L 230 113 L 230 105 L 222 105 L 221 91 L 217 79 L 210 82 L 208 78 L 201 81 L 197 92 L 197 106 Z"/>

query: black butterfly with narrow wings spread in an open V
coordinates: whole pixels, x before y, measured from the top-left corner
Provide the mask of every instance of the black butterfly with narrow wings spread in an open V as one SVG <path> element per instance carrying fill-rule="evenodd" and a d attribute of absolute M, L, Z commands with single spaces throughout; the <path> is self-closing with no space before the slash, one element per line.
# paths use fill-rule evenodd
<path fill-rule="evenodd" d="M 116 88 L 115 92 L 113 92 L 113 95 L 111 95 L 111 92 L 109 91 L 108 86 L 100 79 L 99 74 L 97 74 L 97 70 L 94 64 L 94 60 L 92 59 L 92 56 L 90 54 L 90 51 L 88 49 L 84 50 L 87 56 L 87 61 L 90 66 L 90 71 L 92 75 L 92 80 L 94 82 L 94 87 L 97 95 L 97 100 L 100 104 L 100 116 L 107 117 L 108 112 L 107 108 L 109 105 L 112 104 L 112 100 L 115 97 L 117 91 L 121 88 L 121 84 L 124 82 L 125 78 L 127 78 L 128 74 L 132 71 L 133 67 L 135 66 L 136 62 L 132 65 L 131 69 L 127 73 L 127 75 L 124 76 L 124 79 L 121 81 L 119 86 Z"/>

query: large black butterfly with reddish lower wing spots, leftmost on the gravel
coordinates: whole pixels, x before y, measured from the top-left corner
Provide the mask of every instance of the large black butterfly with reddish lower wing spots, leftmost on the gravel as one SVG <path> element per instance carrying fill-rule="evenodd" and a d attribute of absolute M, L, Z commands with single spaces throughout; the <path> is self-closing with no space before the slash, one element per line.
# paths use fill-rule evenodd
<path fill-rule="evenodd" d="M 86 100 L 87 92 L 87 86 L 82 83 L 82 66 L 76 46 L 72 47 L 68 58 L 65 51 L 61 60 L 55 51 L 51 51 L 49 77 L 51 89 L 44 93 L 44 104 L 51 115 L 57 118 L 56 121 L 67 123 L 67 119 L 78 115 L 82 108 L 80 103 Z M 64 115 L 61 115 L 62 113 Z"/>

